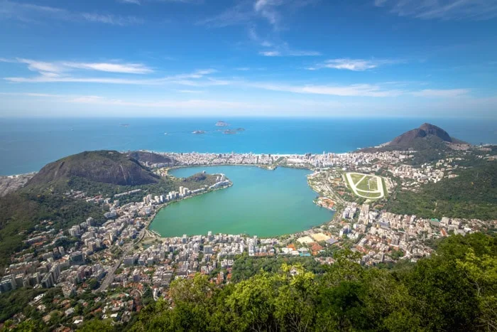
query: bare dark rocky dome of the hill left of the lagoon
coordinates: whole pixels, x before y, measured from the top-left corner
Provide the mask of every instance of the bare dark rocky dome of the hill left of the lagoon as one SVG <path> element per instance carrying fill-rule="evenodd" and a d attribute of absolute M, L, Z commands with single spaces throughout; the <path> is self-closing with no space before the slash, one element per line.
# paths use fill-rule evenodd
<path fill-rule="evenodd" d="M 44 166 L 31 178 L 28 187 L 60 183 L 74 177 L 121 186 L 138 186 L 160 180 L 136 159 L 118 151 L 84 151 Z"/>

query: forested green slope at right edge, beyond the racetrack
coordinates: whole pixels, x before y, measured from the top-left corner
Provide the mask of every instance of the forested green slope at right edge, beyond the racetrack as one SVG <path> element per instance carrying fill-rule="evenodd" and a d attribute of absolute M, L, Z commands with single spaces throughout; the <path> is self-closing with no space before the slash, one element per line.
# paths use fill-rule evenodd
<path fill-rule="evenodd" d="M 397 191 L 386 209 L 424 218 L 478 218 L 497 216 L 497 163 L 482 161 L 459 172 L 457 178 L 427 183 L 419 192 Z"/>

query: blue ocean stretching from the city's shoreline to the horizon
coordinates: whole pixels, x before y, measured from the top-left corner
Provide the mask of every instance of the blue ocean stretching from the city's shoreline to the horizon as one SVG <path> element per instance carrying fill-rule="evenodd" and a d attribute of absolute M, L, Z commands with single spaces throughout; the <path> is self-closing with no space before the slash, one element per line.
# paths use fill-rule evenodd
<path fill-rule="evenodd" d="M 223 134 L 217 129 L 225 128 L 214 125 L 217 120 L 231 124 L 228 128 L 246 130 Z M 471 144 L 497 143 L 497 119 L 4 118 L 0 119 L 0 175 L 38 171 L 64 156 L 99 149 L 342 153 L 384 143 L 423 122 Z M 195 130 L 206 134 L 192 134 Z"/>

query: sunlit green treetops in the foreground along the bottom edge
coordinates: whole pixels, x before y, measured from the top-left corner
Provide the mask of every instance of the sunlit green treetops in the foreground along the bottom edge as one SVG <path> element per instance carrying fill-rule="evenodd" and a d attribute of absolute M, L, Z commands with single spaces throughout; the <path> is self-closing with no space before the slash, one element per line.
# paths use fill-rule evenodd
<path fill-rule="evenodd" d="M 497 324 L 497 240 L 449 237 L 403 269 L 335 255 L 320 274 L 283 264 L 218 289 L 200 274 L 171 284 L 132 331 L 484 331 Z"/>

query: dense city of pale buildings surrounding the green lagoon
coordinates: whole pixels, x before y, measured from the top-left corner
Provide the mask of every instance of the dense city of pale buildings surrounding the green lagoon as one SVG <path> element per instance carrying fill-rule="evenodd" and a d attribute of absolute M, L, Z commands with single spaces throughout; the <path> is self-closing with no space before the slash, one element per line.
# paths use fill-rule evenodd
<path fill-rule="evenodd" d="M 204 173 L 209 173 L 207 166 L 211 165 L 253 165 L 268 171 L 276 167 L 310 168 L 313 173 L 307 181 L 317 192 L 315 203 L 334 210 L 334 217 L 320 227 L 273 238 L 212 232 L 165 238 L 148 230 L 160 208 L 190 196 L 223 190 L 231 186 L 231 181 L 217 174 L 214 184 L 195 190 L 180 186 L 178 191 L 148 193 L 138 188 L 109 197 L 71 190 L 65 195 L 102 207 L 106 211 L 102 219 L 87 216 L 82 223 L 58 230 L 50 219 L 36 225 L 24 241 L 23 250 L 11 257 L 0 291 L 29 289 L 35 295 L 25 304 L 29 312 L 35 312 L 46 326 L 63 331 L 84 326 L 87 318 L 94 317 L 115 326 L 126 325 L 147 304 L 170 299 L 168 289 L 175 279 L 202 274 L 220 287 L 234 280 L 239 282 L 244 273 L 241 262 L 246 257 L 287 257 L 290 261 L 295 258 L 333 265 L 337 252 L 350 250 L 357 255 L 355 262 L 365 267 L 417 262 L 430 257 L 434 243 L 444 237 L 496 230 L 497 218 L 426 218 L 386 210 L 391 195 L 415 193 L 427 183 L 456 178 L 467 167 L 465 161 L 469 158 L 495 158 L 485 146 L 454 151 L 456 156 L 420 165 L 410 163 L 413 151 L 160 154 L 169 161 L 141 161 L 160 176 L 168 176 L 168 170 L 182 166 L 206 166 Z M 356 174 L 357 182 L 348 180 L 347 174 Z M 9 183 L 15 178 L 9 177 Z M 22 185 L 25 181 L 19 182 Z M 376 192 L 381 192 L 378 199 L 364 196 Z M 129 196 L 139 200 L 130 201 L 126 199 Z M 292 271 L 297 274 L 300 270 Z M 4 309 L 2 321 L 8 319 L 5 324 L 15 328 L 29 318 L 25 309 Z"/>

